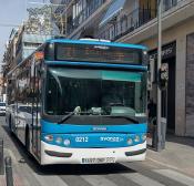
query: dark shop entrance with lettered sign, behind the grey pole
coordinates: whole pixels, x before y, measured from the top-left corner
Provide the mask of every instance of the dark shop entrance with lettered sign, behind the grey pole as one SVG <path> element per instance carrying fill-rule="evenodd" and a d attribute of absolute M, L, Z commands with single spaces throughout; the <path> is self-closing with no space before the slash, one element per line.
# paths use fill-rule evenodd
<path fill-rule="evenodd" d="M 149 100 L 153 100 L 156 104 L 156 71 L 157 71 L 157 50 L 149 52 L 150 68 L 152 71 L 152 89 L 149 91 Z M 171 42 L 162 48 L 162 65 L 169 68 L 167 89 L 162 90 L 161 97 L 161 116 L 162 123 L 167 126 L 167 132 L 175 133 L 175 63 L 176 63 L 176 42 Z"/>

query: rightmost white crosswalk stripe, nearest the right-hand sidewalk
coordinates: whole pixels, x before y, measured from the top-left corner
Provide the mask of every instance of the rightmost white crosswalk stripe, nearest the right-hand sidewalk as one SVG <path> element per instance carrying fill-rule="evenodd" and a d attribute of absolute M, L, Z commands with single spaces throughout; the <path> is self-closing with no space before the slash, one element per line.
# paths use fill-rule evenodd
<path fill-rule="evenodd" d="M 184 185 L 188 185 L 188 186 L 194 186 L 194 178 L 188 177 L 186 175 L 183 175 L 181 173 L 177 173 L 175 170 L 172 169 L 154 169 L 153 172 L 163 175 L 165 177 L 169 177 L 173 180 L 176 180 L 178 183 L 182 183 Z"/>

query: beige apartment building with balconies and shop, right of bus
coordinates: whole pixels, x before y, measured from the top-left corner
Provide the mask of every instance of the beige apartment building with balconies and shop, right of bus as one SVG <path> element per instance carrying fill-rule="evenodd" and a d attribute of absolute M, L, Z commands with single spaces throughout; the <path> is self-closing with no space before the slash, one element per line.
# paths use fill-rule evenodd
<path fill-rule="evenodd" d="M 156 101 L 156 0 L 72 0 L 67 38 L 93 37 L 149 48 L 153 69 L 150 97 Z M 169 64 L 169 87 L 162 91 L 162 121 L 180 136 L 194 136 L 194 0 L 163 0 L 162 63 Z"/>

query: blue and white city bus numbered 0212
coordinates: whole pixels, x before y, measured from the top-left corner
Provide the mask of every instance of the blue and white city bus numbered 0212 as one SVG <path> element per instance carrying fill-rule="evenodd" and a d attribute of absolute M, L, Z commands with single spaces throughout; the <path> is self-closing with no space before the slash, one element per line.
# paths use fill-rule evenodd
<path fill-rule="evenodd" d="M 48 40 L 8 74 L 10 132 L 41 165 L 144 161 L 146 50 Z"/>

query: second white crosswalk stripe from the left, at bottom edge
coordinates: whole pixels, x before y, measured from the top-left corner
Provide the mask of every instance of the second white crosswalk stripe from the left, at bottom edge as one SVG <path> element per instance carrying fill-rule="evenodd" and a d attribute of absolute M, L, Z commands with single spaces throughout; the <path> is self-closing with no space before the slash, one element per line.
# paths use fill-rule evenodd
<path fill-rule="evenodd" d="M 111 182 L 110 179 L 106 179 L 103 176 L 88 175 L 88 176 L 81 176 L 81 177 L 92 186 L 116 186 L 113 182 Z"/>

